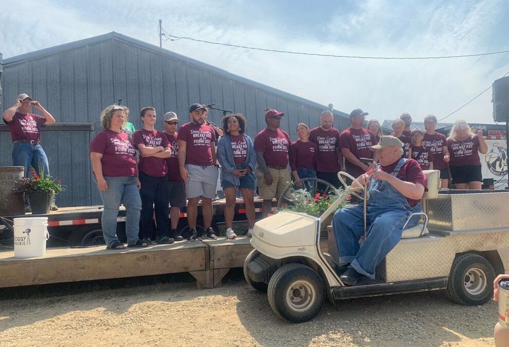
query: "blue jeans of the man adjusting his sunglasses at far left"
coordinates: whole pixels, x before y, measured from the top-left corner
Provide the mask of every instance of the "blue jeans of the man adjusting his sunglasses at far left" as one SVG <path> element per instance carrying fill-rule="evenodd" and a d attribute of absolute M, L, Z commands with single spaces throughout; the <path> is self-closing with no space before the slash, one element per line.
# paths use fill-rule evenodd
<path fill-rule="evenodd" d="M 12 165 L 25 168 L 25 177 L 28 177 L 30 167 L 39 175 L 41 172 L 49 175 L 48 157 L 40 144 L 14 143 L 12 148 Z"/>

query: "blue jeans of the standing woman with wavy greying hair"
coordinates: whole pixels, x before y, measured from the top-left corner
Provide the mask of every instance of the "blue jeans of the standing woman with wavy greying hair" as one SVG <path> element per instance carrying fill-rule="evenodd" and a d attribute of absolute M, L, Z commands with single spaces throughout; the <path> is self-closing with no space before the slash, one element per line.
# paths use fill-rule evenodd
<path fill-rule="evenodd" d="M 128 244 L 138 241 L 140 230 L 141 198 L 136 185 L 136 176 L 104 177 L 108 185 L 105 192 L 99 191 L 104 204 L 101 216 L 102 233 L 106 245 L 118 242 L 117 216 L 118 207 L 122 203 L 125 207 L 125 235 Z"/>

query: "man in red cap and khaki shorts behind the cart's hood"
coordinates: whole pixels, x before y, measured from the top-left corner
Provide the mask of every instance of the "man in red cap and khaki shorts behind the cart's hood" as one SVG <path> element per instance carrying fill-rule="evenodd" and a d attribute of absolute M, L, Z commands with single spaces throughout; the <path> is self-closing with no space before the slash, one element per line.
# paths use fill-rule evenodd
<path fill-rule="evenodd" d="M 281 129 L 284 113 L 266 109 L 267 127 L 255 137 L 255 151 L 258 169 L 258 192 L 263 199 L 262 216 L 266 217 L 272 209 L 272 199 L 278 198 L 290 182 L 288 171 L 288 148 L 290 137 Z"/>

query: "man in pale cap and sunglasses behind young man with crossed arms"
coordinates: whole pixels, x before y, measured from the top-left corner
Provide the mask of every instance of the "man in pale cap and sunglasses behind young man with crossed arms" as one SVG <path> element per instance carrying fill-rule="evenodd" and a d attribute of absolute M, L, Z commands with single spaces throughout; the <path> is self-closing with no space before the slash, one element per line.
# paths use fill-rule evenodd
<path fill-rule="evenodd" d="M 177 231 L 180 209 L 186 207 L 186 184 L 180 176 L 178 167 L 178 141 L 176 132 L 178 117 L 175 112 L 165 114 L 165 135 L 171 147 L 171 157 L 166 159 L 168 165 L 168 181 L 170 185 L 170 238 L 175 241 L 184 240 Z"/>

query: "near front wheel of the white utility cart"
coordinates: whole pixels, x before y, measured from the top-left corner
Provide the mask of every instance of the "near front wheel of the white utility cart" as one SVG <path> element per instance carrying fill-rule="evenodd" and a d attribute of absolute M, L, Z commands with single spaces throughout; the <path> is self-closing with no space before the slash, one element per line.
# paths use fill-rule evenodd
<path fill-rule="evenodd" d="M 323 281 L 311 267 L 286 264 L 276 270 L 268 284 L 270 307 L 280 317 L 294 323 L 313 319 L 322 307 Z"/>

